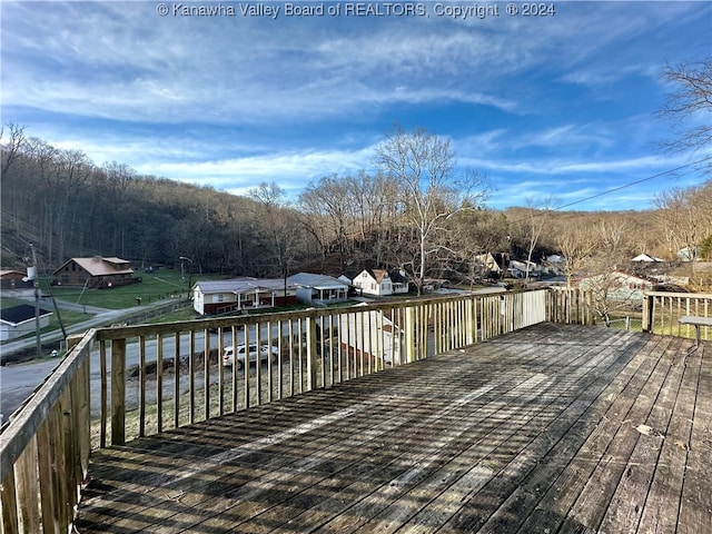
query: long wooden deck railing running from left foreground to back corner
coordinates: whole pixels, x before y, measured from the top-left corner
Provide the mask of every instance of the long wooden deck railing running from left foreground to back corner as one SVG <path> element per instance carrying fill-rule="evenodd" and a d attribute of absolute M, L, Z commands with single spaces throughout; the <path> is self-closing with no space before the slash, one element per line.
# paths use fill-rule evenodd
<path fill-rule="evenodd" d="M 578 291 L 538 289 L 89 330 L 2 428 L 2 532 L 68 532 L 91 448 L 544 320 L 591 324 L 589 303 Z M 221 355 L 240 344 L 273 346 L 279 356 L 234 372 Z"/>

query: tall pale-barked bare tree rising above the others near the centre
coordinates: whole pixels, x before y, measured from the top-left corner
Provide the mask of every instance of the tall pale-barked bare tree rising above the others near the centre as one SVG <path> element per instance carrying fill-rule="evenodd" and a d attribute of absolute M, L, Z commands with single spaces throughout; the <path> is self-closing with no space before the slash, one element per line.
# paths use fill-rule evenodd
<path fill-rule="evenodd" d="M 486 196 L 484 177 L 477 172 L 458 176 L 449 140 L 424 128 L 406 131 L 396 127 L 378 146 L 376 162 L 398 181 L 405 217 L 417 229 L 412 275 L 421 294 L 427 258 L 442 245 L 443 222 L 459 210 L 479 205 Z"/>

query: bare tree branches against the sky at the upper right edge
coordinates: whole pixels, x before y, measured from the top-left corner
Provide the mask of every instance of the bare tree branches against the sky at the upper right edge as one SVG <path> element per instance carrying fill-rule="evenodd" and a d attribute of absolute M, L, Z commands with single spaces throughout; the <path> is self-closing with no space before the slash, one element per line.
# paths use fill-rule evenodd
<path fill-rule="evenodd" d="M 712 142 L 712 57 L 699 63 L 668 66 L 664 80 L 674 87 L 659 116 L 678 137 L 664 141 L 670 151 L 700 150 Z"/>

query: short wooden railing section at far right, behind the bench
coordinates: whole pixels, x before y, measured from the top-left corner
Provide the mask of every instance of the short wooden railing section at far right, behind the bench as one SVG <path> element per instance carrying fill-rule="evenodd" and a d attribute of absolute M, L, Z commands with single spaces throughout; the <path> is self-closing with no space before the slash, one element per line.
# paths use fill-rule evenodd
<path fill-rule="evenodd" d="M 695 337 L 694 327 L 680 324 L 683 315 L 712 317 L 712 294 L 646 291 L 643 297 L 643 332 Z M 701 338 L 712 339 L 712 328 L 701 327 Z"/>

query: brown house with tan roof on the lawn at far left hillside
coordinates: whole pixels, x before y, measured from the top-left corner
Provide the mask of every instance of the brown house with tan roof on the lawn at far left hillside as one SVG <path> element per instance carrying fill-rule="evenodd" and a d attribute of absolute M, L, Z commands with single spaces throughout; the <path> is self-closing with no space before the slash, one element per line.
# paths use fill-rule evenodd
<path fill-rule="evenodd" d="M 141 281 L 131 263 L 116 257 L 70 258 L 52 273 L 60 286 L 108 288 Z"/>

